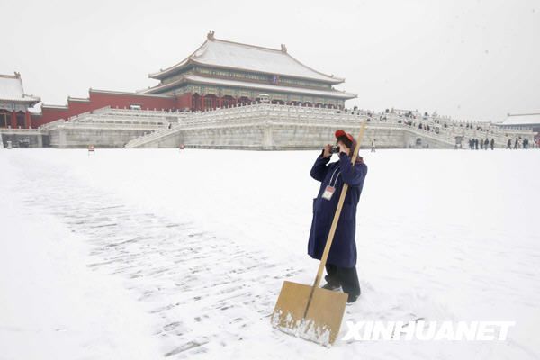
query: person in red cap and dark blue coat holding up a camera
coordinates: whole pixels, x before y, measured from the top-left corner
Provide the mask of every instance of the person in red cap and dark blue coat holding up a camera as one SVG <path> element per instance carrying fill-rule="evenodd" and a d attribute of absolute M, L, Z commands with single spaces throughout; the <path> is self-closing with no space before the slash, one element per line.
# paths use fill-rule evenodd
<path fill-rule="evenodd" d="M 360 283 L 356 273 L 356 206 L 364 186 L 367 166 L 362 157 L 351 164 L 356 140 L 344 130 L 335 133 L 339 147 L 339 160 L 330 163 L 332 146 L 327 145 L 311 168 L 311 177 L 320 181 L 319 194 L 313 199 L 308 254 L 316 259 L 322 257 L 329 230 L 338 208 L 338 199 L 344 184 L 348 184 L 347 196 L 338 220 L 338 228 L 330 247 L 326 265 L 325 289 L 348 294 L 347 302 L 355 302 L 360 296 Z"/>

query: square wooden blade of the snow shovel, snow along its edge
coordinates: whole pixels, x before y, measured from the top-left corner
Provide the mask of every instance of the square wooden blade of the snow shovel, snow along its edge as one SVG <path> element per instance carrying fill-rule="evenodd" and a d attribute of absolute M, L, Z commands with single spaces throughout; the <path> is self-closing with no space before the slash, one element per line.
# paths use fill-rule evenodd
<path fill-rule="evenodd" d="M 347 294 L 316 288 L 304 317 L 311 288 L 311 285 L 285 281 L 272 313 L 272 325 L 321 345 L 333 344 L 343 320 Z"/>

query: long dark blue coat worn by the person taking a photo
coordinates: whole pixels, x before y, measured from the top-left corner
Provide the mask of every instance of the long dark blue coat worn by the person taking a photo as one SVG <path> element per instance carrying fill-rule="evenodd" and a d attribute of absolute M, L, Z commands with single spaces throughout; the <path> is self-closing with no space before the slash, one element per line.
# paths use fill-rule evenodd
<path fill-rule="evenodd" d="M 348 184 L 349 188 L 327 262 L 340 267 L 353 267 L 356 266 L 356 205 L 364 186 L 367 166 L 359 161 L 356 162 L 355 166 L 352 166 L 351 158 L 343 153 L 339 154 L 339 161 L 331 164 L 329 161 L 329 157 L 324 158 L 321 154 L 311 168 L 311 177 L 322 184 L 320 184 L 319 194 L 313 199 L 313 220 L 311 221 L 308 254 L 316 259 L 322 257 L 332 220 L 334 220 L 334 214 L 338 208 L 339 196 L 345 183 Z M 332 184 L 336 191 L 330 200 L 326 200 L 321 196 L 329 185 L 332 174 L 334 174 Z"/>

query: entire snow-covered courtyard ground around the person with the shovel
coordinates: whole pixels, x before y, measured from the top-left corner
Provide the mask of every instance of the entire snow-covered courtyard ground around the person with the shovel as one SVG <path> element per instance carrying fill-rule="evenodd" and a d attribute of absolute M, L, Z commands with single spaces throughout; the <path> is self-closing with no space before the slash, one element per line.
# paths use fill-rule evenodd
<path fill-rule="evenodd" d="M 514 320 L 507 341 L 326 348 L 272 329 L 283 281 L 317 270 L 317 151 L 5 149 L 0 359 L 540 357 L 540 151 L 362 155 L 344 320 Z"/>

